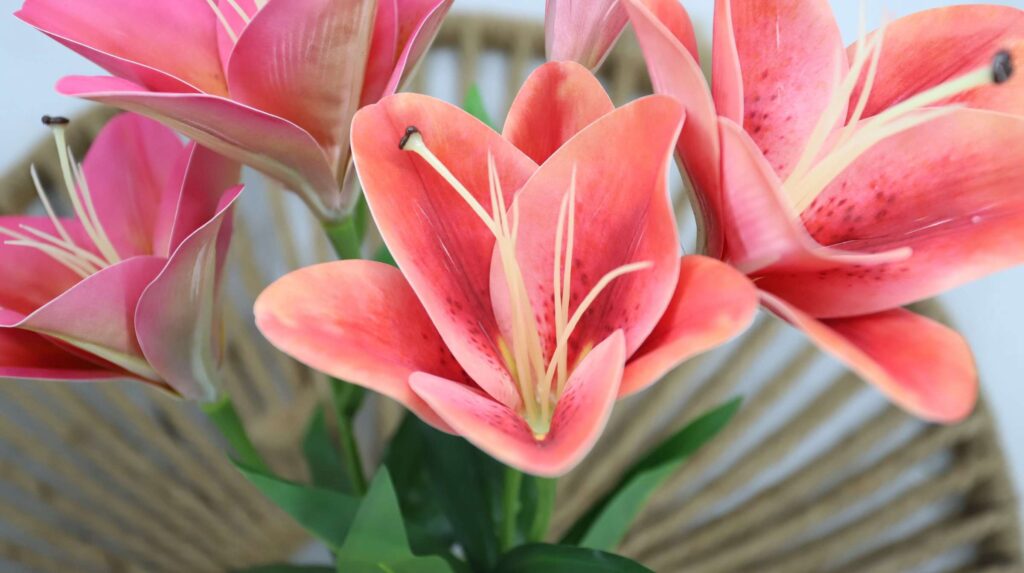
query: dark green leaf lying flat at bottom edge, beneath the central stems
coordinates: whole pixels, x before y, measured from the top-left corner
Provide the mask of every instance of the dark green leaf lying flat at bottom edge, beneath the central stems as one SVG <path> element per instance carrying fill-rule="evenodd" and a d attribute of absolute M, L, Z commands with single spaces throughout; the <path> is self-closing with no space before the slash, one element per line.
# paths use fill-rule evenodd
<path fill-rule="evenodd" d="M 531 543 L 505 554 L 494 573 L 653 573 L 626 559 L 596 549 Z"/>

